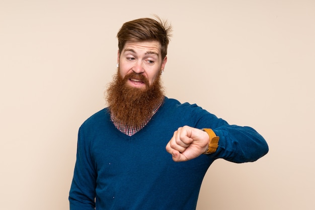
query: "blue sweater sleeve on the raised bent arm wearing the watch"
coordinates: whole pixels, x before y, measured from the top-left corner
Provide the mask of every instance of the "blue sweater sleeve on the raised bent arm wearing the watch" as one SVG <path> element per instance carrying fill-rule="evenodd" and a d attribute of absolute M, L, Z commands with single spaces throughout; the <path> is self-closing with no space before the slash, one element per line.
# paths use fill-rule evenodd
<path fill-rule="evenodd" d="M 218 149 L 209 154 L 215 159 L 222 158 L 234 163 L 254 162 L 269 151 L 264 137 L 252 127 L 230 125 L 200 107 L 195 107 L 192 114 L 200 116 L 198 128 L 211 128 L 220 137 Z"/>

